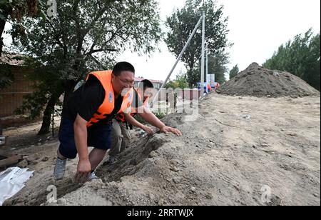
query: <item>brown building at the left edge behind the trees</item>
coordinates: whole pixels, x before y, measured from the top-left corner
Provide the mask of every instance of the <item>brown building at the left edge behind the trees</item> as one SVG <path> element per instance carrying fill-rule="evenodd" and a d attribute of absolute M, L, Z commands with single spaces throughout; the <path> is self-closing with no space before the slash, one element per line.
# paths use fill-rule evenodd
<path fill-rule="evenodd" d="M 2 126 L 20 124 L 23 117 L 15 116 L 14 111 L 21 106 L 24 95 L 34 92 L 33 82 L 26 76 L 32 72 L 24 66 L 24 61 L 19 54 L 2 54 L 0 57 L 0 72 L 10 71 L 14 75 L 14 81 L 10 86 L 0 89 L 0 122 Z M 1 75 L 0 75 L 1 76 Z"/>

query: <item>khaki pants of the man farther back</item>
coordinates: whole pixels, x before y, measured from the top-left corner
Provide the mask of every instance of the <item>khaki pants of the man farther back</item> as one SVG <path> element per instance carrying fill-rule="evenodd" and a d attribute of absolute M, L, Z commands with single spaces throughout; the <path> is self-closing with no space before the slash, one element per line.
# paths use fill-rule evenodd
<path fill-rule="evenodd" d="M 126 129 L 126 124 L 113 119 L 111 129 L 111 150 L 109 156 L 116 156 L 131 144 L 131 133 Z"/>

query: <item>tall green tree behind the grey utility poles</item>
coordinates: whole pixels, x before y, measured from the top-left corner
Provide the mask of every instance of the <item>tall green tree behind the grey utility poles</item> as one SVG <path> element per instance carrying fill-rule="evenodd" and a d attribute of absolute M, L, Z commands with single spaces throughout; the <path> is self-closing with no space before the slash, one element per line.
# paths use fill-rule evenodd
<path fill-rule="evenodd" d="M 210 54 L 222 54 L 228 44 L 227 22 L 223 17 L 223 6 L 217 6 L 213 0 L 187 0 L 183 9 L 177 9 L 172 16 L 167 18 L 168 34 L 165 42 L 171 53 L 178 57 L 183 46 L 200 19 L 201 12 L 205 11 L 206 31 L 205 37 L 208 41 Z M 199 81 L 193 68 L 197 63 L 202 51 L 202 36 L 195 34 L 190 45 L 182 56 L 182 61 L 188 69 L 188 84 L 192 86 Z"/>

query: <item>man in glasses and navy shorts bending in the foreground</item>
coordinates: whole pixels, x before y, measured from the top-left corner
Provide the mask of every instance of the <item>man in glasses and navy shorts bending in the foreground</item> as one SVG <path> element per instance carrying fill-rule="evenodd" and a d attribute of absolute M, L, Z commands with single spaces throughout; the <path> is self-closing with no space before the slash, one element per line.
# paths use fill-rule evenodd
<path fill-rule="evenodd" d="M 113 71 L 91 72 L 86 83 L 71 94 L 61 118 L 56 180 L 63 179 L 66 159 L 75 159 L 77 154 L 76 181 L 96 178 L 94 171 L 111 147 L 113 116 L 131 111 L 134 81 L 134 67 L 121 62 Z M 94 148 L 90 154 L 88 146 Z"/>

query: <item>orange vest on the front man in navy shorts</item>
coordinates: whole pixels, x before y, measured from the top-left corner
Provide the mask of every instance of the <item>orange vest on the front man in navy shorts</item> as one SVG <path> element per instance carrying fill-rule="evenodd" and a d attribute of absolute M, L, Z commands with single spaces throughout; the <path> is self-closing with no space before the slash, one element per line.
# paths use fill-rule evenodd
<path fill-rule="evenodd" d="M 89 79 L 89 76 L 95 76 L 105 89 L 105 99 L 101 106 L 99 106 L 98 110 L 93 117 L 88 121 L 87 127 L 93 126 L 93 124 L 98 123 L 103 119 L 106 119 L 108 115 L 111 114 L 115 107 L 115 95 L 113 93 L 113 85 L 111 84 L 111 74 L 112 71 L 95 71 L 88 74 L 86 81 Z M 125 96 L 123 96 L 123 103 L 121 104 L 121 109 L 118 111 L 118 114 L 122 113 L 126 109 L 131 107 L 131 102 L 133 101 L 133 89 L 127 91 Z"/>

